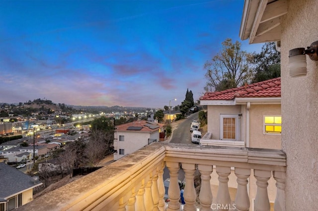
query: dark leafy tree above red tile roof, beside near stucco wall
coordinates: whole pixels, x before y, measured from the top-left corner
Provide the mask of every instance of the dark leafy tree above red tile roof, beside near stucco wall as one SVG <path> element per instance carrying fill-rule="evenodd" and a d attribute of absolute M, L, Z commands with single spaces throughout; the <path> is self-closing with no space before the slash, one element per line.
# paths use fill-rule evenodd
<path fill-rule="evenodd" d="M 280 77 L 280 52 L 275 43 L 265 43 L 260 53 L 253 53 L 254 77 L 252 83 Z"/>

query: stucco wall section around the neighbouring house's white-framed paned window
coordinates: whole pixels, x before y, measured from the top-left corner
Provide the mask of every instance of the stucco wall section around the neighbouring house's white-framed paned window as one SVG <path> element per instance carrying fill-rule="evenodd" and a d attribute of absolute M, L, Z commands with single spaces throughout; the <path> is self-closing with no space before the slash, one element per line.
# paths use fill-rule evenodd
<path fill-rule="evenodd" d="M 220 113 L 239 114 L 240 106 L 208 106 L 208 132 L 212 133 L 212 139 L 220 139 Z"/>

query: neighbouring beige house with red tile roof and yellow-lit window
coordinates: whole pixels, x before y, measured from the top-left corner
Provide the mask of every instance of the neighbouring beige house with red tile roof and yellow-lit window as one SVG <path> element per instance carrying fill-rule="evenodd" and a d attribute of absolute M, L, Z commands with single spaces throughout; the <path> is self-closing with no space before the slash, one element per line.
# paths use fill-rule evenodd
<path fill-rule="evenodd" d="M 200 97 L 208 110 L 202 145 L 281 149 L 281 79 L 274 78 Z"/>

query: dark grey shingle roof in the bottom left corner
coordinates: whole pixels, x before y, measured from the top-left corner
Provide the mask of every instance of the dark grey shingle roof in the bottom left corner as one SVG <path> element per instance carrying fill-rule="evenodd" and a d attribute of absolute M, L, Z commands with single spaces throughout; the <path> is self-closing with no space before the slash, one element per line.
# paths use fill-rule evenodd
<path fill-rule="evenodd" d="M 42 185 L 42 182 L 34 181 L 31 176 L 0 162 L 0 200 L 4 201 L 14 194 L 39 185 Z"/>

